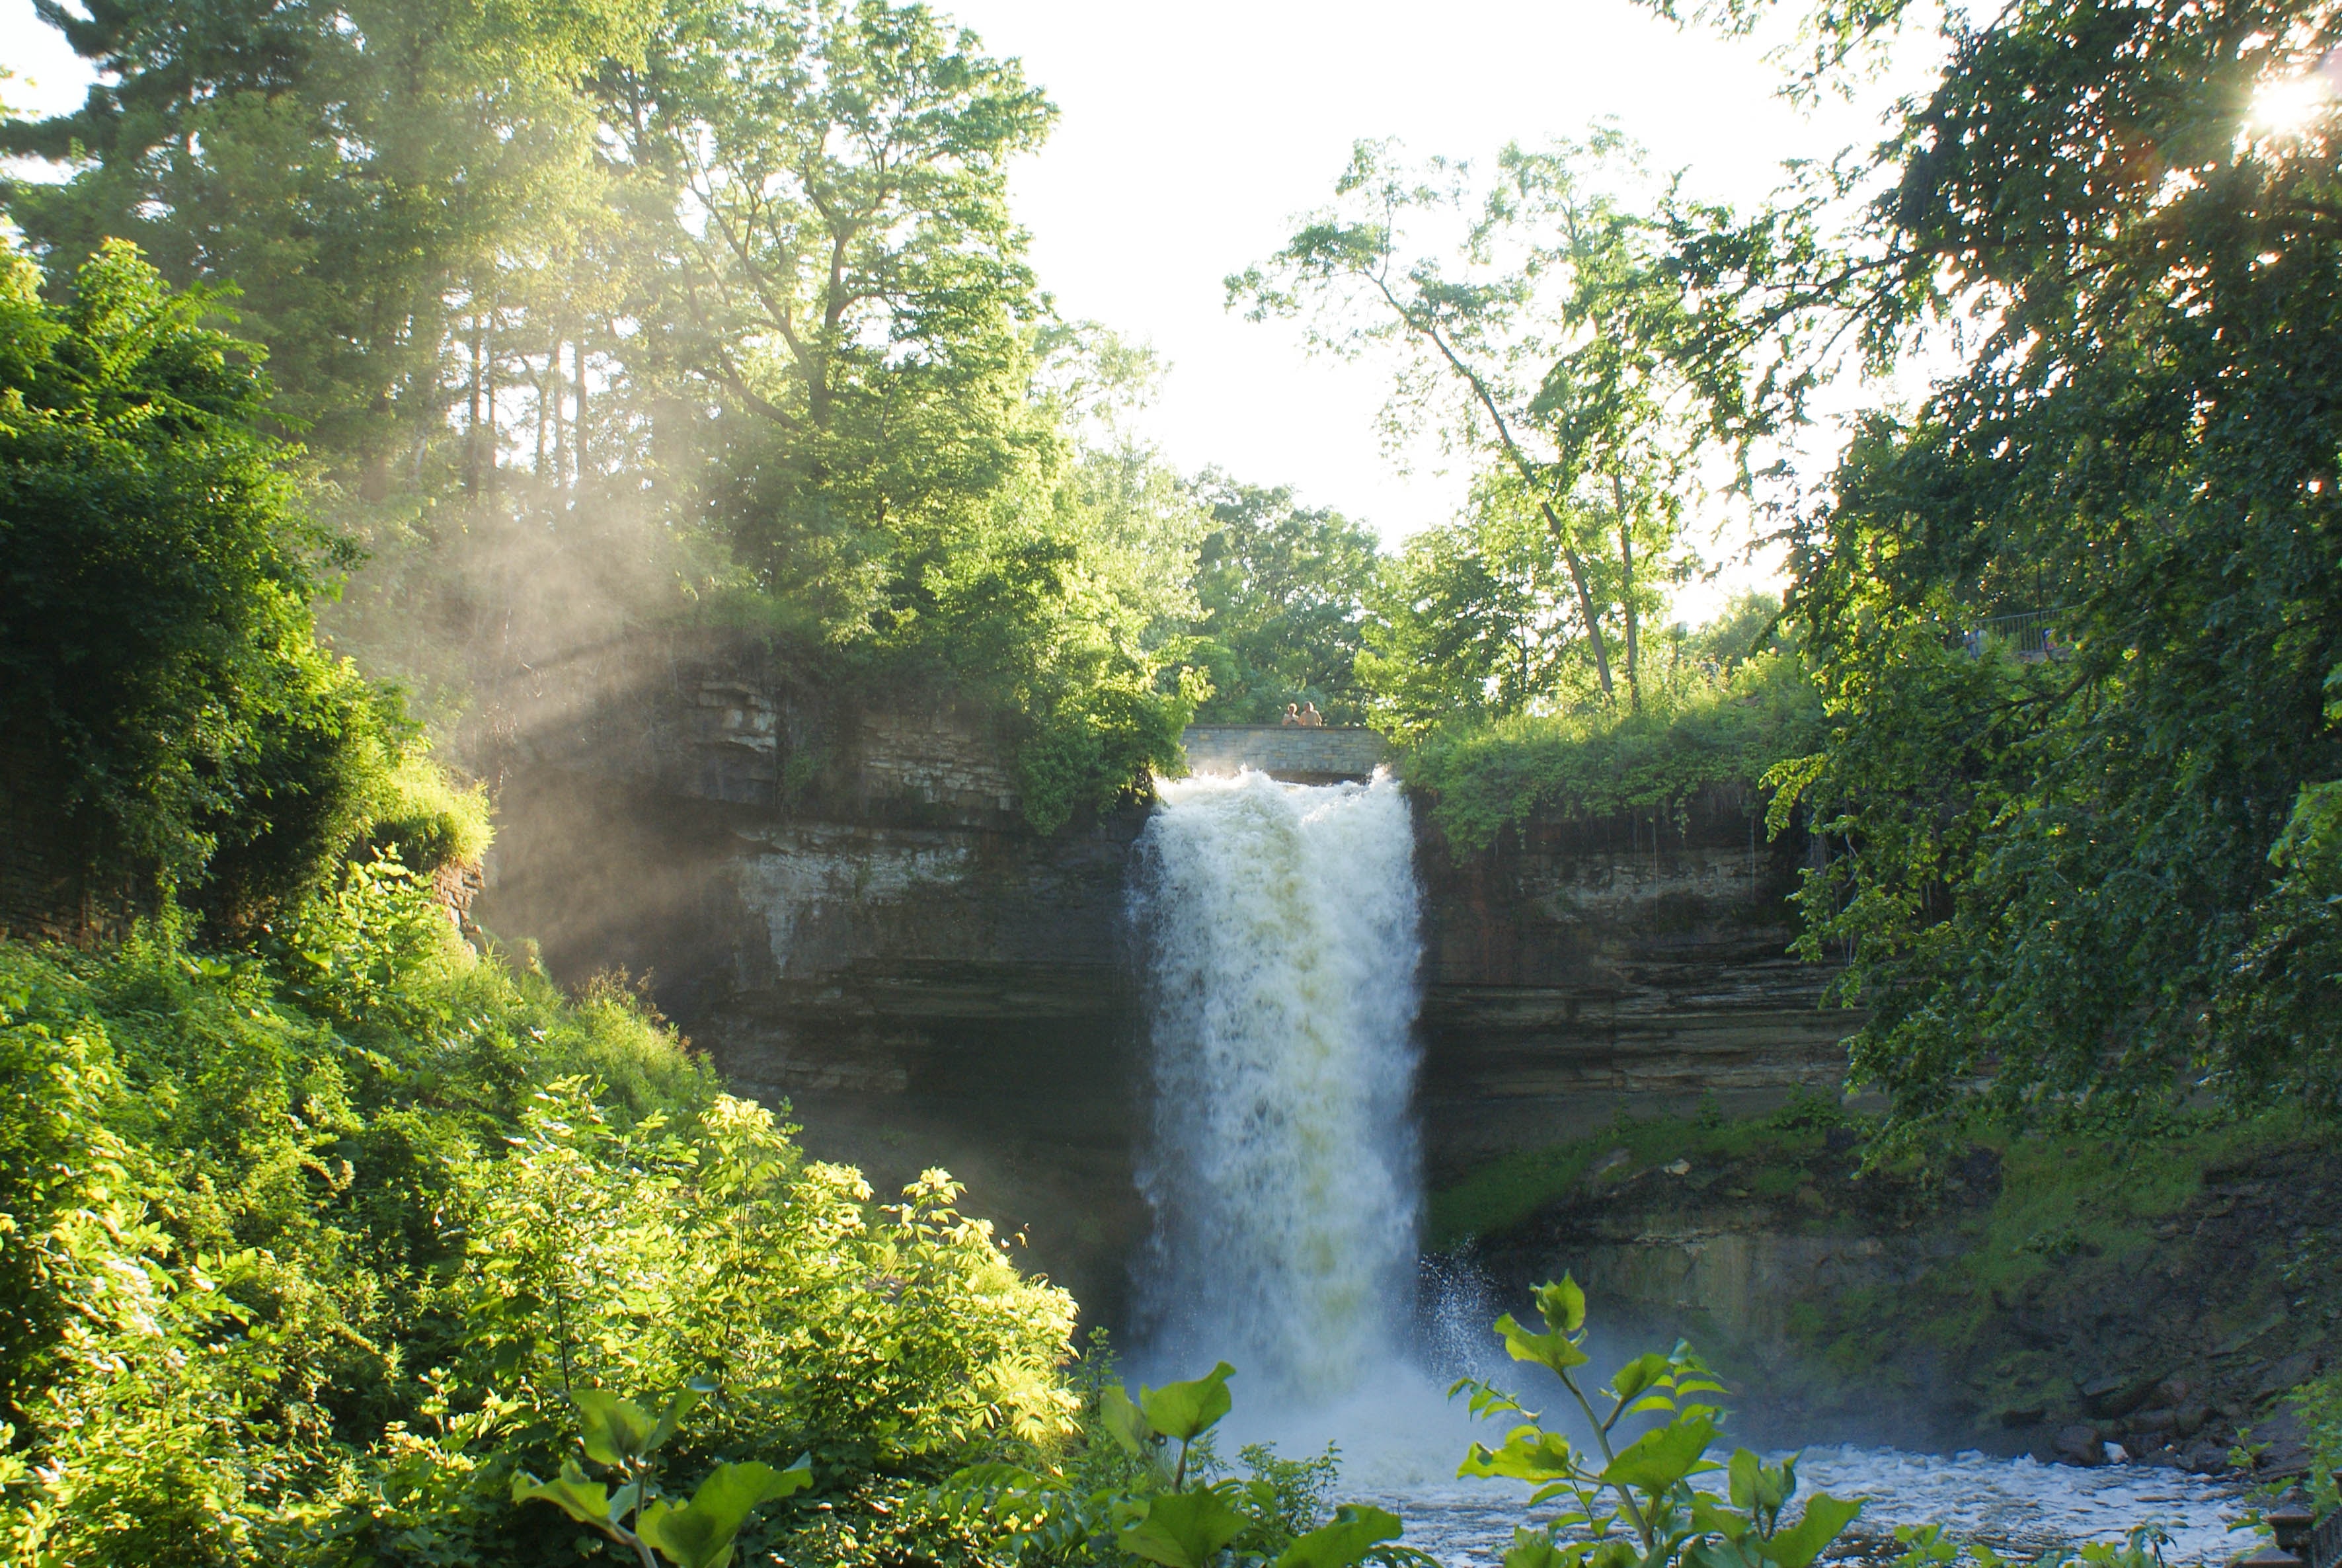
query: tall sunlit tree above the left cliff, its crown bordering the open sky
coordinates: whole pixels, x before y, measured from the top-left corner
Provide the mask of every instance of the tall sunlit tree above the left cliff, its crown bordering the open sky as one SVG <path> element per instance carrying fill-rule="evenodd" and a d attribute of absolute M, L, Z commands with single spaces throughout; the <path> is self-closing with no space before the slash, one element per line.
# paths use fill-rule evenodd
<path fill-rule="evenodd" d="M 742 413 L 726 520 L 759 581 L 850 638 L 1028 483 L 1040 314 L 1007 164 L 1054 108 L 923 7 L 682 5 L 614 84 L 682 197 L 670 288 Z"/>

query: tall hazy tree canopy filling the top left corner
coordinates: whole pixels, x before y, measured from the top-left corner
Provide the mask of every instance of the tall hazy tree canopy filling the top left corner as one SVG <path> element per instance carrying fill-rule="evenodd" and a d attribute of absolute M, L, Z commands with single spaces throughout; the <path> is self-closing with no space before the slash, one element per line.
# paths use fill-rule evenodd
<path fill-rule="evenodd" d="M 0 124 L 66 162 L 9 180 L 9 216 L 59 279 L 108 237 L 173 284 L 234 284 L 272 349 L 276 415 L 368 499 L 393 455 L 447 438 L 452 298 L 497 239 L 560 225 L 593 157 L 578 84 L 639 49 L 616 0 L 122 0 L 42 19 L 101 80 L 84 105 Z"/>

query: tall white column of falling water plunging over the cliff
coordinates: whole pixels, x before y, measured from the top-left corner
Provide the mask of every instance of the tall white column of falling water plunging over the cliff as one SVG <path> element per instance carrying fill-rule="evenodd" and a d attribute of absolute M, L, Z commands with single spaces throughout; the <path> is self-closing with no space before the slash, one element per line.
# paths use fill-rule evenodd
<path fill-rule="evenodd" d="M 1131 921 L 1155 1113 L 1138 1341 L 1251 1397 L 1340 1399 L 1401 1355 L 1415 1284 L 1417 888 L 1398 783 L 1162 785 Z"/>

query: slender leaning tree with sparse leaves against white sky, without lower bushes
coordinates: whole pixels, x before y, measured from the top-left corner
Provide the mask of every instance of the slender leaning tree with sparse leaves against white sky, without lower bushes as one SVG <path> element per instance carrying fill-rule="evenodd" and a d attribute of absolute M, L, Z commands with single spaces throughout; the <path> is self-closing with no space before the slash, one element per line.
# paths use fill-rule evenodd
<path fill-rule="evenodd" d="M 1611 626 L 1639 701 L 1649 579 L 1665 579 L 1710 438 L 1740 431 L 1740 382 L 1700 375 L 1698 312 L 1665 270 L 1665 225 L 1595 180 L 1639 178 L 1614 131 L 1468 169 L 1410 171 L 1358 143 L 1312 218 L 1265 267 L 1227 281 L 1253 316 L 1314 314 L 1314 342 L 1403 354 L 1396 417 L 1440 410 L 1454 445 L 1501 471 L 1567 572 L 1595 682 L 1611 696 Z M 1405 258 L 1408 223 L 1461 227 L 1457 263 Z"/>

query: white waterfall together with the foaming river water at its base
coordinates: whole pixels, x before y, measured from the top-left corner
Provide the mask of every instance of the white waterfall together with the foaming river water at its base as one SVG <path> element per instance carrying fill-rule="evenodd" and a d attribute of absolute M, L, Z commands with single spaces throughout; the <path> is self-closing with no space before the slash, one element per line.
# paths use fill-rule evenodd
<path fill-rule="evenodd" d="M 1408 1545 L 1447 1568 L 1487 1568 L 1546 1509 L 1515 1484 L 1454 1479 L 1464 1446 L 1501 1430 L 1475 1427 L 1443 1385 L 1475 1371 L 1539 1404 L 1553 1390 L 1504 1364 L 1494 1289 L 1468 1259 L 1426 1270 L 1415 1313 L 1412 841 L 1382 773 L 1162 785 L 1131 886 L 1155 1059 L 1136 1371 L 1162 1383 L 1234 1362 L 1225 1432 L 1286 1455 L 1337 1441 L 1344 1495 L 1396 1509 Z M 2173 1472 L 1981 1453 L 1815 1448 L 1801 1477 L 1867 1498 L 1864 1561 L 1897 1552 L 1888 1528 L 1930 1519 L 2021 1549 L 2162 1521 L 2171 1561 L 2218 1561 L 2239 1507 L 2234 1488 Z"/>

